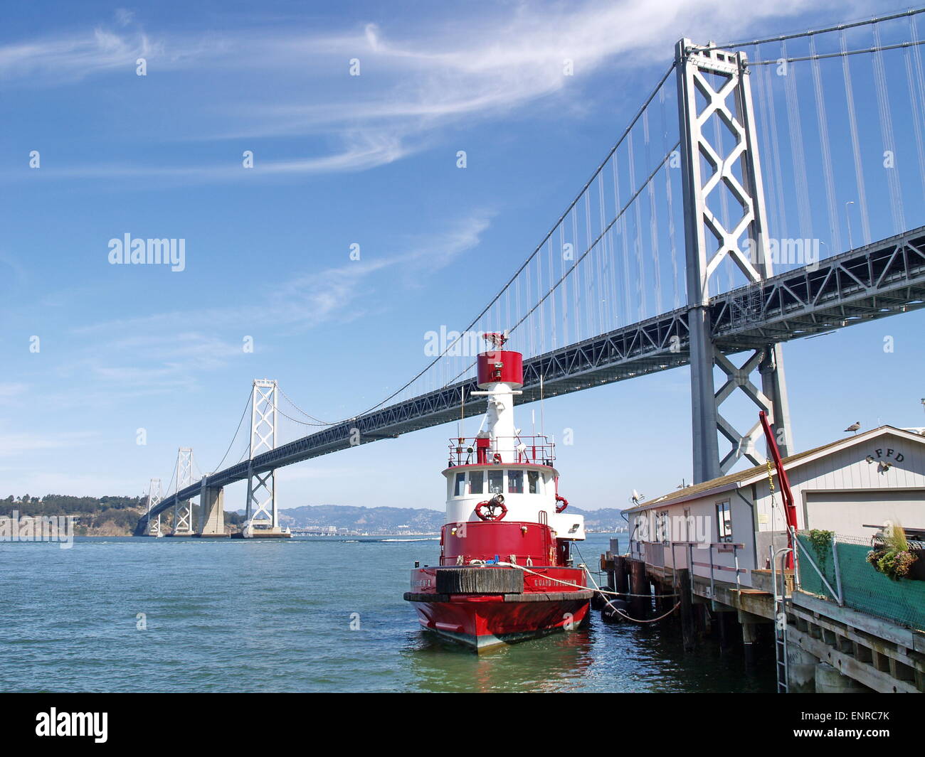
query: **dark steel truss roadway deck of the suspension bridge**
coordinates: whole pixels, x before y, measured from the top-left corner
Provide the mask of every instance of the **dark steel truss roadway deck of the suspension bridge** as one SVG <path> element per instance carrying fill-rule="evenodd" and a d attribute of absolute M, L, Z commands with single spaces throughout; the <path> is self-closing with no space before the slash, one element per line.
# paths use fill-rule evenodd
<path fill-rule="evenodd" d="M 770 350 L 774 345 L 913 311 L 925 306 L 925 226 L 873 242 L 709 300 L 711 339 L 718 353 Z M 678 309 L 614 329 L 568 347 L 524 360 L 521 404 L 612 384 L 670 368 L 690 360 L 687 310 Z M 746 366 L 747 367 L 747 366 Z M 742 381 L 746 381 L 743 370 Z M 367 444 L 395 438 L 461 416 L 461 393 L 470 397 L 475 379 L 429 392 L 303 436 L 268 452 L 213 473 L 207 486 L 221 488 L 253 474 L 347 449 L 351 439 Z M 723 389 L 721 387 L 720 392 Z M 480 415 L 483 403 L 465 402 L 465 415 Z M 357 430 L 359 433 L 356 433 Z M 139 522 L 200 494 L 195 482 L 166 496 Z"/>

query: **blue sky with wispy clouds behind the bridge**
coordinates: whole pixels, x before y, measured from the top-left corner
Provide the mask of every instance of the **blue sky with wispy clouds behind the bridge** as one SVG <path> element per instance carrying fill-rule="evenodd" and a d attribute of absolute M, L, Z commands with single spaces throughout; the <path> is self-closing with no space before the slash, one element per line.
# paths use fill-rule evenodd
<path fill-rule="evenodd" d="M 141 494 L 170 479 L 178 446 L 212 470 L 253 378 L 323 419 L 375 404 L 425 365 L 425 332 L 462 328 L 534 249 L 677 39 L 895 9 L 757 5 L 20 6 L 0 30 L 0 495 Z M 110 265 L 126 233 L 185 239 L 185 270 Z M 858 420 L 925 425 L 923 324 L 788 344 L 796 447 Z M 678 370 L 547 403 L 546 430 L 573 429 L 571 502 L 620 507 L 689 480 L 687 384 Z M 304 431 L 284 421 L 282 440 Z M 279 505 L 441 508 L 450 433 L 280 470 Z M 226 507 L 243 503 L 229 488 Z"/>

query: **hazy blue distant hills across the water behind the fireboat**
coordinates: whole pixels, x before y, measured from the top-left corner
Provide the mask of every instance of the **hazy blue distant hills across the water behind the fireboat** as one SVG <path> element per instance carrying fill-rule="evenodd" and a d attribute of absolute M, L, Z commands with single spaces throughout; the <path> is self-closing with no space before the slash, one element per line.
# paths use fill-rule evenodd
<path fill-rule="evenodd" d="M 583 510 L 569 507 L 569 512 L 585 516 L 592 531 L 614 531 L 625 526 L 622 510 L 607 508 Z M 352 507 L 349 505 L 304 505 L 279 510 L 279 522 L 291 528 L 333 527 L 350 531 L 437 532 L 443 525 L 443 511 L 413 507 Z"/>

